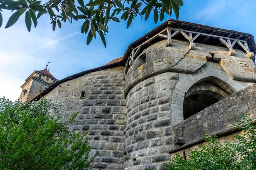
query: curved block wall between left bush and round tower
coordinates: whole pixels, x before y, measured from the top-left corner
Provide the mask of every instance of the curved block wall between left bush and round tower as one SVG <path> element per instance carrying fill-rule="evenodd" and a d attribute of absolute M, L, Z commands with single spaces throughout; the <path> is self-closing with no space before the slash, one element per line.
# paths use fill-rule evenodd
<path fill-rule="evenodd" d="M 93 164 L 96 169 L 123 169 L 123 72 L 123 67 L 92 72 L 62 83 L 45 96 L 63 105 L 64 119 L 79 112 L 71 128 L 81 133 L 88 131 L 90 155 L 99 152 Z M 81 98 L 82 91 L 84 98 Z"/>

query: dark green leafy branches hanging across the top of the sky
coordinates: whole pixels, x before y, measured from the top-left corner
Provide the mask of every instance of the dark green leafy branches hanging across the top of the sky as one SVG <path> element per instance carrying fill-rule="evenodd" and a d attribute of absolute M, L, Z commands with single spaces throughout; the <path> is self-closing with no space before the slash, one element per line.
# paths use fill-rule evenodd
<path fill-rule="evenodd" d="M 81 33 L 88 33 L 87 45 L 99 34 L 106 47 L 105 35 L 110 21 L 127 20 L 128 28 L 137 15 L 147 20 L 153 12 L 154 23 L 157 23 L 158 19 L 164 19 L 165 13 L 171 16 L 172 11 L 178 19 L 180 6 L 183 6 L 182 0 L 90 0 L 87 4 L 84 4 L 84 0 L 49 0 L 45 4 L 38 0 L 0 0 L 0 27 L 3 23 L 3 9 L 14 11 L 5 28 L 14 25 L 24 12 L 28 31 L 31 30 L 32 22 L 37 26 L 38 19 L 43 14 L 50 17 L 53 31 L 56 25 L 61 28 L 61 22 L 84 20 Z"/>

